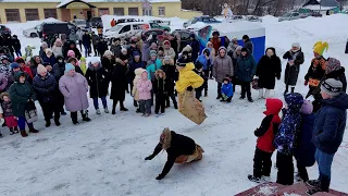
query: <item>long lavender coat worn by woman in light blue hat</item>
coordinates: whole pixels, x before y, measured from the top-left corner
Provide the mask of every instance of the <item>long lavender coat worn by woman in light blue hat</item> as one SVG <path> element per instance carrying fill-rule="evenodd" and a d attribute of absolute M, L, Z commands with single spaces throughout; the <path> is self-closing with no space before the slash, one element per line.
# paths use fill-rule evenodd
<path fill-rule="evenodd" d="M 64 96 L 67 111 L 86 110 L 88 105 L 88 84 L 86 77 L 79 73 L 74 76 L 63 75 L 59 81 L 59 89 Z"/>

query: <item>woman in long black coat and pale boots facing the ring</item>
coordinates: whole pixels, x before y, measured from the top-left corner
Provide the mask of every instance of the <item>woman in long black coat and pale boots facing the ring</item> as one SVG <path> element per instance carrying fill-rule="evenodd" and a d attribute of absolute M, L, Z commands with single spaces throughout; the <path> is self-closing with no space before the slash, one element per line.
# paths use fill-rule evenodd
<path fill-rule="evenodd" d="M 256 76 L 259 76 L 259 98 L 270 97 L 271 89 L 274 89 L 275 78 L 281 79 L 282 62 L 276 56 L 274 48 L 268 48 L 257 68 Z M 263 88 L 265 91 L 263 94 Z"/>

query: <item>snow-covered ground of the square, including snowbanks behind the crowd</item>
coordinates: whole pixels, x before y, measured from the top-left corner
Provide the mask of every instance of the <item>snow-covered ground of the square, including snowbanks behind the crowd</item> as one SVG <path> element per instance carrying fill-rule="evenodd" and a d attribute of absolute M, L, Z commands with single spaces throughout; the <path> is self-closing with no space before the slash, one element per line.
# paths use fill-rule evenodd
<path fill-rule="evenodd" d="M 173 28 L 183 21 L 170 19 Z M 8 24 L 18 35 L 22 46 L 38 49 L 38 38 L 24 38 L 22 30 L 38 22 Z M 306 62 L 301 68 L 297 91 L 307 93 L 303 76 L 312 58 L 312 46 L 318 40 L 328 41 L 325 57 L 336 57 L 343 65 L 348 63 L 344 53 L 348 35 L 348 15 L 331 15 L 322 19 L 303 19 L 278 23 L 272 16 L 263 17 L 266 28 L 266 46 L 275 47 L 278 56 L 290 49 L 291 42 L 302 46 Z M 228 24 L 231 25 L 231 24 Z M 38 50 L 36 50 L 38 52 Z M 285 66 L 285 61 L 283 62 Z M 283 78 L 282 78 L 283 79 Z M 239 100 L 239 91 L 231 105 L 215 100 L 216 83 L 209 82 L 209 97 L 203 98 L 207 121 L 195 125 L 178 111 L 167 109 L 164 117 L 141 118 L 135 113 L 129 95 L 126 97 L 128 112 L 116 115 L 97 115 L 90 101 L 92 121 L 74 126 L 69 115 L 62 117 L 62 126 L 45 128 L 42 114 L 35 126 L 39 134 L 27 138 L 10 136 L 1 128 L 0 139 L 0 193 L 7 196 L 225 196 L 248 189 L 256 184 L 247 180 L 252 172 L 256 145 L 253 131 L 263 118 L 264 100 L 254 102 Z M 282 97 L 283 81 L 276 84 L 275 97 Z M 111 101 L 109 101 L 111 107 Z M 206 150 L 199 162 L 174 166 L 162 181 L 154 177 L 162 171 L 166 154 L 152 161 L 150 155 L 163 127 L 194 138 Z M 333 163 L 332 188 L 348 192 L 348 136 L 339 148 Z M 346 146 L 346 147 L 345 147 Z M 275 161 L 275 156 L 273 156 Z M 318 176 L 316 166 L 309 169 L 310 177 Z M 272 170 L 272 181 L 276 170 Z"/>

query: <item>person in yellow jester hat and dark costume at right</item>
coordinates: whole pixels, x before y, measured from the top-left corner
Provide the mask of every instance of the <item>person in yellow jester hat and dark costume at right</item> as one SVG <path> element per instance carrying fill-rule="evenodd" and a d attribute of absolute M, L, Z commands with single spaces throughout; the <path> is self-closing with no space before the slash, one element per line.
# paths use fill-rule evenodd
<path fill-rule="evenodd" d="M 311 65 L 308 69 L 308 72 L 304 76 L 304 86 L 309 86 L 309 91 L 306 98 L 313 96 L 315 99 L 313 106 L 315 107 L 316 102 L 320 102 L 322 99 L 320 95 L 320 84 L 325 76 L 325 62 L 326 59 L 323 57 L 324 51 L 327 51 L 328 44 L 326 41 L 316 41 L 313 47 L 314 58 L 311 61 Z"/>

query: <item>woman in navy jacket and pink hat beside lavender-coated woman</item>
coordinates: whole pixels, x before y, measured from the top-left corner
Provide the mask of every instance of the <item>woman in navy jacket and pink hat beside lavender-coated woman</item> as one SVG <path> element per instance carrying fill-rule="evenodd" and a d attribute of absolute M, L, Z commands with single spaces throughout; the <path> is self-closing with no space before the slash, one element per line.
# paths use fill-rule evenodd
<path fill-rule="evenodd" d="M 60 126 L 59 122 L 61 107 L 55 103 L 58 95 L 58 84 L 53 75 L 47 72 L 46 68 L 41 64 L 37 66 L 37 75 L 33 79 L 33 88 L 37 95 L 45 121 L 46 127 L 51 125 L 51 118 L 54 112 L 54 123 Z"/>

